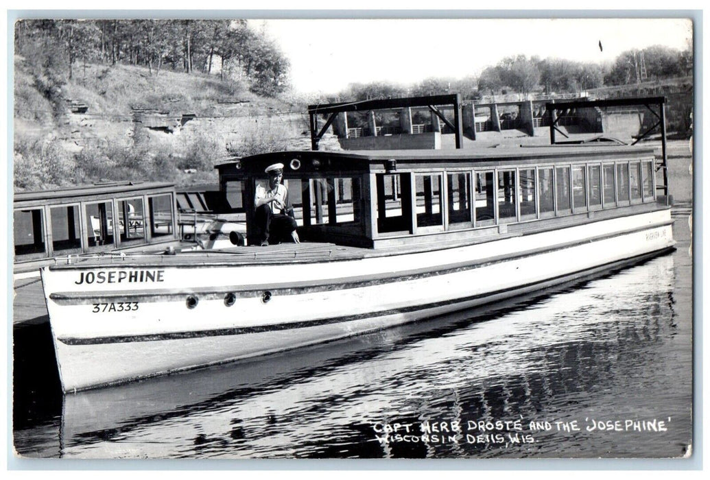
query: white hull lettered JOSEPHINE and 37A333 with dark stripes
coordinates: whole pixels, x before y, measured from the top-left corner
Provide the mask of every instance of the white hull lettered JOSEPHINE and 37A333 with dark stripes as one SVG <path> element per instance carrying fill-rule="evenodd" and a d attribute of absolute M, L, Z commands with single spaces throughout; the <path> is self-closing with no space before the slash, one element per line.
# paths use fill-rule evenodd
<path fill-rule="evenodd" d="M 464 310 L 673 244 L 664 209 L 424 253 L 253 266 L 44 268 L 42 276 L 62 388 L 75 391 Z M 138 281 L 138 270 L 151 271 L 153 281 Z M 190 297 L 197 300 L 192 308 Z"/>

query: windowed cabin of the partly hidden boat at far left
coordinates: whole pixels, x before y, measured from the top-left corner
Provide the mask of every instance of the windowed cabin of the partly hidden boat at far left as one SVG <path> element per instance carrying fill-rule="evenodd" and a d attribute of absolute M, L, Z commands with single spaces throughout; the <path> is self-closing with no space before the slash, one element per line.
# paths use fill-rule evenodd
<path fill-rule="evenodd" d="M 111 182 L 18 192 L 13 203 L 15 270 L 54 257 L 104 251 L 165 249 L 178 241 L 175 187 Z"/>

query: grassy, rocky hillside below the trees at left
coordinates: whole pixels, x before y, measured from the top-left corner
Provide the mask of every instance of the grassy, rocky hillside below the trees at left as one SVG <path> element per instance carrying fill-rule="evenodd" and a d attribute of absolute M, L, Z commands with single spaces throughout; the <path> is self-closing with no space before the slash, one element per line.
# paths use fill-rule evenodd
<path fill-rule="evenodd" d="M 212 182 L 212 165 L 226 156 L 310 148 L 304 104 L 258 97 L 219 75 L 87 64 L 55 87 L 24 58 L 14 66 L 16 190 Z"/>

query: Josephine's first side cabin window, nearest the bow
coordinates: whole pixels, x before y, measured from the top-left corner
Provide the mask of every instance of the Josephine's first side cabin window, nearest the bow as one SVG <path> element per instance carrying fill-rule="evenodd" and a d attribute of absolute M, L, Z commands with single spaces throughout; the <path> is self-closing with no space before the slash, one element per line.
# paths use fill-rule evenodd
<path fill-rule="evenodd" d="M 377 230 L 380 233 L 412 229 L 411 174 L 378 173 Z"/>

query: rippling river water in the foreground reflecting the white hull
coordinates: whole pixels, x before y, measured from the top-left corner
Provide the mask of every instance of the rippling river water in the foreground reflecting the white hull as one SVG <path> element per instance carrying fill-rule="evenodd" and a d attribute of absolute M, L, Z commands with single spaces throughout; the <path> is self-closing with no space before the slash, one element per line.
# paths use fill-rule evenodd
<path fill-rule="evenodd" d="M 674 207 L 677 250 L 638 266 L 266 359 L 62 398 L 56 372 L 38 374 L 51 354 L 16 348 L 15 448 L 97 459 L 680 457 L 692 437 L 689 208 Z M 46 326 L 32 328 L 16 342 L 48 341 Z"/>

